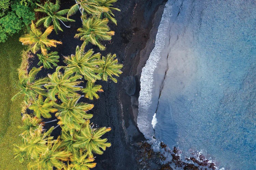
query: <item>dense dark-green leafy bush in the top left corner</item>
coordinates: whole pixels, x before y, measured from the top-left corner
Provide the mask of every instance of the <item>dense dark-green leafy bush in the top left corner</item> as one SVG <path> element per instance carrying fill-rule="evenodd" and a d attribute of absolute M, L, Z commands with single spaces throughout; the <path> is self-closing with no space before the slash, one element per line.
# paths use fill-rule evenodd
<path fill-rule="evenodd" d="M 11 10 L 9 8 L 11 7 Z M 19 32 L 23 25 L 28 27 L 28 24 L 34 19 L 34 13 L 29 6 L 24 6 L 19 1 L 14 1 L 10 5 L 9 0 L 0 2 L 0 43 L 5 42 L 8 36 Z"/>

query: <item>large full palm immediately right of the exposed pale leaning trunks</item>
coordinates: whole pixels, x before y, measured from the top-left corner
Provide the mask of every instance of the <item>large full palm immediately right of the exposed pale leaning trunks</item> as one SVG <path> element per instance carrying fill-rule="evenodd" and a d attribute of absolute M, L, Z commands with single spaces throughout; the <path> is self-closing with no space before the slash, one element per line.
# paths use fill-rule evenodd
<path fill-rule="evenodd" d="M 61 128 L 64 131 L 71 131 L 75 129 L 79 131 L 81 124 L 85 123 L 85 119 L 93 117 L 92 114 L 86 114 L 87 111 L 94 107 L 93 104 L 77 103 L 81 97 L 73 97 L 66 102 L 57 105 L 58 112 L 55 116 L 60 120 L 58 124 L 62 125 Z M 72 131 L 71 131 L 72 132 Z"/>

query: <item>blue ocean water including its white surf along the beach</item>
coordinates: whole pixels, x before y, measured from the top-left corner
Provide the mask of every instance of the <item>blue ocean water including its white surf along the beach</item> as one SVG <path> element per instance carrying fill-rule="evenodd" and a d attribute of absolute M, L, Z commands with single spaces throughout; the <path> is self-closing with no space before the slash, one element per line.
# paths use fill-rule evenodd
<path fill-rule="evenodd" d="M 255 0 L 167 2 L 142 70 L 138 127 L 183 158 L 202 151 L 219 168 L 256 169 Z"/>

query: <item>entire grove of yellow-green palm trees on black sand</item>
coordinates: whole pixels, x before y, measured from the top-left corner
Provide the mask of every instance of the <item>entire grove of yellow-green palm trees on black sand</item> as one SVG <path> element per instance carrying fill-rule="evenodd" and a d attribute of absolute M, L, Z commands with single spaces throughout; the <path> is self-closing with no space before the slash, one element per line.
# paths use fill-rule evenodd
<path fill-rule="evenodd" d="M 28 169 L 94 168 L 95 155 L 103 154 L 111 146 L 107 138 L 102 138 L 111 128 L 95 128 L 90 122 L 94 105 L 79 100 L 84 97 L 89 100 L 98 99 L 97 93 L 103 92 L 103 89 L 95 83 L 109 79 L 116 83 L 114 76 L 118 77 L 122 73 L 120 69 L 123 65 L 118 64 L 115 54 L 101 56 L 100 53 L 94 54 L 93 49 L 85 52 L 89 42 L 105 50 L 100 41 L 111 40 L 114 35 L 107 25 L 109 19 L 116 23 L 112 11 L 119 10 L 112 7 L 113 2 L 116 0 L 78 0 L 70 9 L 61 11 L 58 0 L 55 4 L 48 1 L 44 5 L 37 4 L 39 8 L 35 11 L 47 16 L 39 19 L 36 24 L 39 26 L 43 23 L 45 31 L 42 32 L 32 21 L 29 34 L 20 37 L 19 40 L 24 45 L 31 47 L 32 53 L 37 53 L 38 65 L 43 65 L 33 67 L 30 71 L 20 71 L 20 91 L 12 98 L 24 96 L 26 108 L 33 111 L 33 115 L 23 113 L 23 125 L 19 127 L 22 131 L 19 135 L 22 137 L 22 144 L 15 145 L 15 158 L 20 162 L 28 160 Z M 58 53 L 51 51 L 50 47 L 62 43 L 48 39 L 48 35 L 53 29 L 56 33 L 58 30 L 63 31 L 59 21 L 73 21 L 68 17 L 77 11 L 82 13 L 83 28 L 78 29 L 80 33 L 75 37 L 80 37 L 84 42 L 81 47 L 76 47 L 75 54 L 64 57 L 66 65 L 61 66 L 58 63 Z M 67 17 L 63 17 L 65 14 Z M 47 77 L 40 78 L 37 74 L 43 67 L 56 69 L 48 73 Z M 86 87 L 83 86 L 84 83 Z M 54 116 L 57 119 L 43 121 Z M 53 121 L 57 121 L 57 125 L 44 128 L 47 127 L 44 126 L 46 123 Z M 61 133 L 54 139 L 51 134 L 58 126 Z"/>

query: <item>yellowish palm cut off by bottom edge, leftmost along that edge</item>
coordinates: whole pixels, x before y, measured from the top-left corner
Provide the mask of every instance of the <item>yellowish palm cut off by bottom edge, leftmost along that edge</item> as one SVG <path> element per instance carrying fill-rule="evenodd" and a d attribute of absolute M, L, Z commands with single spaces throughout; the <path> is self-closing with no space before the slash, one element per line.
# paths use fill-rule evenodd
<path fill-rule="evenodd" d="M 30 164 L 30 168 L 52 170 L 53 167 L 57 169 L 66 168 L 63 161 L 68 161 L 71 153 L 63 151 L 62 141 L 58 137 L 57 140 L 51 140 L 47 142 L 47 151 L 42 154 L 39 159 L 33 164 Z"/>

